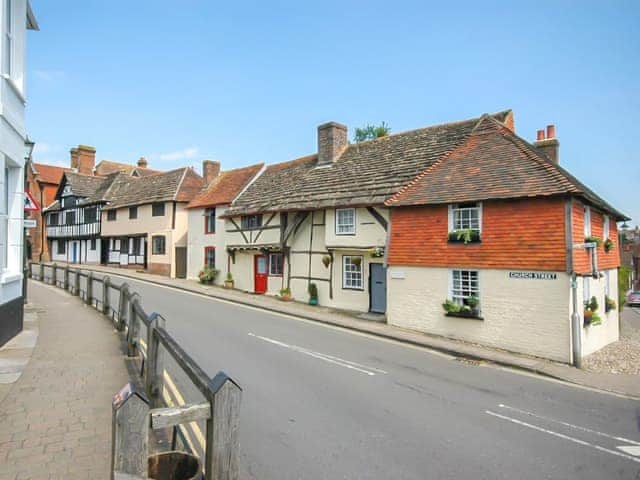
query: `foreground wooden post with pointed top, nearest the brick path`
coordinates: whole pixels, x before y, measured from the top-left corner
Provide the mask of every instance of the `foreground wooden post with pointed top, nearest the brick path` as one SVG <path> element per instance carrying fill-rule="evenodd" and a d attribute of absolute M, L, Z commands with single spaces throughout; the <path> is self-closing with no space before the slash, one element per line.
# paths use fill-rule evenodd
<path fill-rule="evenodd" d="M 112 403 L 111 478 L 116 472 L 147 478 L 149 404 L 126 384 Z"/>

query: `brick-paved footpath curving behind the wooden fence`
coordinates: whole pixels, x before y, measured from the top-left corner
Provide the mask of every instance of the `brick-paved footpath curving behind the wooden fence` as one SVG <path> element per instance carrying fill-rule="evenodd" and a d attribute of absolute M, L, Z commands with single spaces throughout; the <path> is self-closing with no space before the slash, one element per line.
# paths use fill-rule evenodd
<path fill-rule="evenodd" d="M 109 321 L 77 297 L 37 282 L 40 336 L 0 403 L 0 480 L 108 479 L 111 398 L 128 381 Z"/>

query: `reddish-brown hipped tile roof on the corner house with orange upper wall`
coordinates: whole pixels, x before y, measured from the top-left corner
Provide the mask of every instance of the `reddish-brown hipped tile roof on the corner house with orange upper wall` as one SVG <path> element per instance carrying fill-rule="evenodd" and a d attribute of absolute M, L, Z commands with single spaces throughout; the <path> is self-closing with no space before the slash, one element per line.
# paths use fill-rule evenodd
<path fill-rule="evenodd" d="M 619 219 L 624 214 L 489 116 L 467 140 L 385 203 L 410 206 L 576 194 Z"/>

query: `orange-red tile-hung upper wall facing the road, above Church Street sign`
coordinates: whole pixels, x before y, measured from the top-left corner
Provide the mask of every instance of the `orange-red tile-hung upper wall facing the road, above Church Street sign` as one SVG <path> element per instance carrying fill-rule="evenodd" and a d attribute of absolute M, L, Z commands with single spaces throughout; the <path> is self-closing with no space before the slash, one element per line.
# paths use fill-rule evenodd
<path fill-rule="evenodd" d="M 390 265 L 565 271 L 564 199 L 488 201 L 482 243 L 448 243 L 447 205 L 391 209 Z"/>

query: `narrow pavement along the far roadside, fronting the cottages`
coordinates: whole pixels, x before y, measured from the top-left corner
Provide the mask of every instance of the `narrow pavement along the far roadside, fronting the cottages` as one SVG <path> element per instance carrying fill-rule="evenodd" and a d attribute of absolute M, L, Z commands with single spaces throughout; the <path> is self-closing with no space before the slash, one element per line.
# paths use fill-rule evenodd
<path fill-rule="evenodd" d="M 82 265 L 81 267 L 83 270 L 93 270 L 108 275 L 118 275 L 183 291 L 199 293 L 242 305 L 258 307 L 270 312 L 283 313 L 294 317 L 322 322 L 390 340 L 434 349 L 470 360 L 492 362 L 502 366 L 522 369 L 577 385 L 640 399 L 640 379 L 638 375 L 581 370 L 571 365 L 537 357 L 520 355 L 469 342 L 390 326 L 386 323 L 375 321 L 379 320 L 378 318 L 363 319 L 366 318 L 366 316 L 363 316 L 362 312 L 349 312 L 322 306 L 313 307 L 306 303 L 295 301 L 283 302 L 273 296 L 255 295 L 218 286 L 202 285 L 194 280 L 171 279 L 161 275 L 143 273 L 131 269 L 105 267 L 102 265 Z"/>

